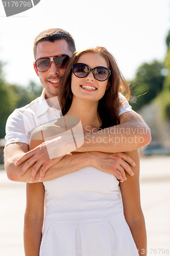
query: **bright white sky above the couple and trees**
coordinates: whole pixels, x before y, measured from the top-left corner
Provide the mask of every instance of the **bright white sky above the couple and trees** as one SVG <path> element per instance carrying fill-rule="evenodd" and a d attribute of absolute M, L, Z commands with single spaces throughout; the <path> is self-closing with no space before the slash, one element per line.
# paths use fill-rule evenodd
<path fill-rule="evenodd" d="M 170 0 L 41 0 L 34 8 L 6 17 L 0 2 L 0 60 L 6 81 L 39 83 L 33 69 L 33 41 L 43 30 L 62 28 L 77 50 L 104 46 L 126 79 L 142 62 L 163 60 L 170 29 Z"/>

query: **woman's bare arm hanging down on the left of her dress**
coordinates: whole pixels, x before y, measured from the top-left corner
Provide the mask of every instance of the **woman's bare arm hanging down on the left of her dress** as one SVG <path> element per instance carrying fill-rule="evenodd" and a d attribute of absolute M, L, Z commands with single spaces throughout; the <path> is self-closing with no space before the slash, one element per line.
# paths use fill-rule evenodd
<path fill-rule="evenodd" d="M 32 142 L 30 141 L 30 150 L 39 143 L 38 141 Z M 27 183 L 27 205 L 23 230 L 26 256 L 39 256 L 44 219 L 44 194 L 42 182 Z"/>

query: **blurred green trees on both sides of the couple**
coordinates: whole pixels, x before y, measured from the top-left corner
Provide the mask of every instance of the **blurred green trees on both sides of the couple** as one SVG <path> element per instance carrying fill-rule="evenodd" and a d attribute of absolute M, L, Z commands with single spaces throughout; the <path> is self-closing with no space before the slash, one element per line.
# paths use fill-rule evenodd
<path fill-rule="evenodd" d="M 131 88 L 130 104 L 140 111 L 144 105 L 155 102 L 159 105 L 161 117 L 170 121 L 170 30 L 165 40 L 167 53 L 161 62 L 144 62 L 137 68 L 134 79 L 128 81 Z M 3 74 L 5 63 L 0 61 L 0 138 L 5 136 L 5 124 L 14 109 L 20 108 L 40 96 L 41 84 L 30 81 L 25 87 L 8 84 Z"/>

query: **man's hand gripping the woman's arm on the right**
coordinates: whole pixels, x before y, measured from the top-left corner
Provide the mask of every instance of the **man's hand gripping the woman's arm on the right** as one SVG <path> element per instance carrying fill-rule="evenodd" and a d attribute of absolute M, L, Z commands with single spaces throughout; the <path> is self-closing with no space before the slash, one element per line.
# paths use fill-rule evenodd
<path fill-rule="evenodd" d="M 115 175 L 120 182 L 127 180 L 125 172 L 130 176 L 134 175 L 129 165 L 135 166 L 135 162 L 124 153 L 89 152 L 89 154 L 92 166 Z"/>

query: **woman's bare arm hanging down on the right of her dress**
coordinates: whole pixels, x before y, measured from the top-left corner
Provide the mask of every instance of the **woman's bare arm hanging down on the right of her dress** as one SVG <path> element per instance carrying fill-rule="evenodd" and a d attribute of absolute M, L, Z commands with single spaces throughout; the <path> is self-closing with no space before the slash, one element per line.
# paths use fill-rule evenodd
<path fill-rule="evenodd" d="M 127 174 L 127 181 L 120 183 L 122 193 L 124 215 L 130 227 L 133 239 L 138 249 L 139 255 L 147 255 L 147 233 L 143 212 L 140 205 L 140 188 L 139 188 L 139 156 L 138 151 L 126 152 L 136 163 L 132 167 L 134 176 Z"/>

